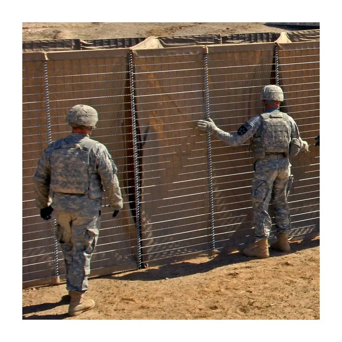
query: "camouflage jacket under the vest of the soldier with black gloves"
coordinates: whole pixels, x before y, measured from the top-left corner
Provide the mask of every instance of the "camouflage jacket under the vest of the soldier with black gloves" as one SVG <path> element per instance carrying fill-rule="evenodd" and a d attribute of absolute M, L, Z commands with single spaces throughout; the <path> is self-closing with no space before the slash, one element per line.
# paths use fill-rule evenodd
<path fill-rule="evenodd" d="M 67 144 L 77 144 L 87 134 L 71 133 L 64 141 Z M 45 150 L 38 162 L 38 168 L 33 178 L 34 191 L 36 197 L 36 206 L 38 209 L 44 208 L 49 203 L 49 196 L 52 197 L 52 206 L 57 210 L 95 213 L 101 210 L 102 199 L 92 199 L 88 194 L 70 194 L 70 193 L 51 193 L 51 153 L 54 150 L 56 142 L 51 143 Z M 119 187 L 117 167 L 107 148 L 96 143 L 90 150 L 89 168 L 92 173 L 97 173 L 106 190 L 108 204 L 114 210 L 121 210 L 123 206 L 121 190 Z M 67 175 L 66 175 L 67 179 Z"/>

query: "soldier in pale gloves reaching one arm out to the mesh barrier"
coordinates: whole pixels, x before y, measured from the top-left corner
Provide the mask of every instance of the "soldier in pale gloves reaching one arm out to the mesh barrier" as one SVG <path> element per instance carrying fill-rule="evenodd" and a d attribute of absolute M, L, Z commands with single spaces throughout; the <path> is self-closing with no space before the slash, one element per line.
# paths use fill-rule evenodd
<path fill-rule="evenodd" d="M 251 150 L 256 160 L 251 199 L 257 245 L 254 248 L 245 248 L 243 252 L 249 257 L 268 258 L 267 239 L 272 223 L 267 211 L 271 195 L 279 234 L 279 239 L 271 248 L 290 251 L 287 194 L 293 176 L 290 172 L 289 156 L 297 155 L 300 151 L 307 152 L 308 144 L 300 138 L 294 120 L 279 111 L 280 102 L 284 101 L 280 87 L 265 86 L 261 91 L 261 100 L 265 106 L 264 113 L 245 122 L 235 134 L 222 131 L 210 118 L 199 120 L 197 127 L 215 135 L 228 145 L 241 145 L 252 138 Z"/>

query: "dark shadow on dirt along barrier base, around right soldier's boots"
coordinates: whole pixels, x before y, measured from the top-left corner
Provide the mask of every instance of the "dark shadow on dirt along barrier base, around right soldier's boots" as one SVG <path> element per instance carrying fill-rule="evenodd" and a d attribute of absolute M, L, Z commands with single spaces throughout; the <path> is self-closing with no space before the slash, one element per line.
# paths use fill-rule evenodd
<path fill-rule="evenodd" d="M 301 241 L 294 242 L 291 244 L 290 252 L 280 252 L 274 251 L 272 249 L 269 250 L 269 257 L 279 257 L 280 255 L 287 255 L 299 252 L 304 249 L 313 248 L 319 246 L 319 239 L 309 240 L 309 241 Z M 253 258 L 257 259 L 257 258 Z M 250 257 L 239 253 L 225 254 L 219 253 L 211 260 L 205 263 L 194 264 L 191 261 L 185 261 L 177 264 L 163 265 L 156 268 L 147 268 L 144 272 L 132 272 L 129 274 L 124 274 L 122 276 L 119 275 L 111 275 L 105 276 L 101 278 L 105 279 L 116 279 L 116 280 L 144 280 L 144 281 L 153 281 L 160 280 L 165 278 L 177 278 L 177 277 L 185 277 L 188 275 L 196 274 L 196 273 L 205 273 L 211 271 L 214 268 L 222 267 L 226 265 L 238 264 L 241 262 L 246 262 L 252 260 Z"/>

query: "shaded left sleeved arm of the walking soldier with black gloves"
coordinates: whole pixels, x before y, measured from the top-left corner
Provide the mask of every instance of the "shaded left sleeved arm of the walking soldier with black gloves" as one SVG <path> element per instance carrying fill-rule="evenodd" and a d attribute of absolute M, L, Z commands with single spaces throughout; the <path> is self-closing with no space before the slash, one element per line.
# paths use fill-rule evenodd
<path fill-rule="evenodd" d="M 42 209 L 49 206 L 50 164 L 46 152 L 40 157 L 38 167 L 33 177 L 33 186 L 36 197 L 36 207 Z"/>

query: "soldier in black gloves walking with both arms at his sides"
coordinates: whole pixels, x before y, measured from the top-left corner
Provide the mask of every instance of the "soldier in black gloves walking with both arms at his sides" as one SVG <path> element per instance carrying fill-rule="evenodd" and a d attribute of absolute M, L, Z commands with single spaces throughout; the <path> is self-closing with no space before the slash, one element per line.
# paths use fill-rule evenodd
<path fill-rule="evenodd" d="M 68 313 L 76 316 L 95 303 L 85 300 L 90 259 L 96 246 L 101 216 L 103 183 L 115 217 L 122 209 L 117 168 L 107 148 L 90 139 L 98 120 L 87 105 L 76 105 L 66 115 L 73 129 L 45 149 L 34 176 L 36 206 L 44 220 L 57 220 L 56 235 L 64 255 Z M 53 207 L 51 206 L 51 202 Z"/>

